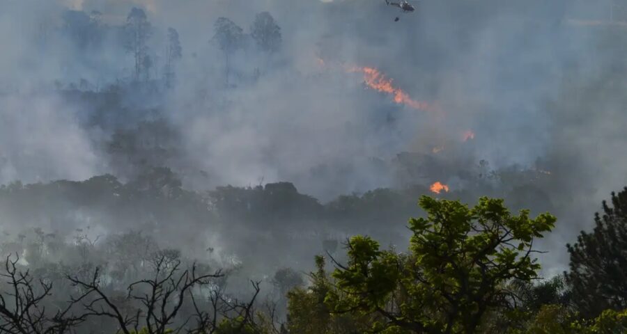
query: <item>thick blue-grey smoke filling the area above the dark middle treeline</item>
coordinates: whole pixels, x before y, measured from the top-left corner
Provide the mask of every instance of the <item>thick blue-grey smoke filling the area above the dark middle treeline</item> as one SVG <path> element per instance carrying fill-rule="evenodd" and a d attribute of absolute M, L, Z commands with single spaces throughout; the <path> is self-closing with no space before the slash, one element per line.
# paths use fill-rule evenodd
<path fill-rule="evenodd" d="M 155 153 L 148 164 L 166 161 L 186 189 L 290 181 L 326 202 L 440 181 L 468 199 L 487 192 L 551 209 L 558 228 L 541 246 L 552 250 L 543 260 L 556 270 L 566 261 L 563 245 L 627 182 L 620 155 L 626 52 L 622 26 L 610 21 L 624 17 L 611 1 L 420 1 L 407 15 L 358 0 L 0 6 L 0 182 L 102 173 L 132 180 L 137 168 L 111 154 L 110 138 L 164 118 L 174 138 L 160 140 L 176 152 Z M 121 26 L 133 7 L 153 26 L 153 79 L 164 76 L 167 28 L 180 35 L 176 86 L 166 93 L 125 84 L 133 58 L 121 47 Z M 67 10 L 86 16 L 72 20 Z M 246 37 L 249 47 L 229 55 L 226 71 L 214 23 L 228 17 L 247 34 L 263 11 L 281 26 L 281 48 L 266 54 Z M 82 26 L 72 24 L 96 18 L 107 29 L 77 43 L 82 35 L 72 33 Z M 378 68 L 438 112 L 395 104 L 350 66 Z M 123 92 L 114 89 L 120 83 Z M 70 88 L 84 93 L 59 93 Z M 109 95 L 95 103 L 87 91 Z M 474 138 L 464 141 L 467 131 Z M 414 172 L 408 164 L 432 168 Z M 523 170 L 550 177 L 521 193 Z M 500 179 L 477 186 L 473 177 L 490 171 Z"/>

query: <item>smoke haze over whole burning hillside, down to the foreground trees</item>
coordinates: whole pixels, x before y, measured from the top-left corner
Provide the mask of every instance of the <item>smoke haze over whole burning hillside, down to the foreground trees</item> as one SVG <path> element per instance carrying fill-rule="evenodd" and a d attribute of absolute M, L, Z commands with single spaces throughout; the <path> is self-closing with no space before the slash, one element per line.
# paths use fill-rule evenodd
<path fill-rule="evenodd" d="M 355 234 L 403 250 L 419 196 L 489 196 L 555 214 L 534 256 L 596 291 L 579 312 L 624 308 L 578 274 L 624 260 L 593 237 L 624 236 L 615 198 L 594 219 L 627 184 L 624 6 L 416 2 L 0 0 L 3 255 L 122 286 L 172 250 L 176 275 L 224 269 L 229 312 L 253 280 L 284 317 L 294 287 L 313 300 L 314 255 L 344 263 Z"/>

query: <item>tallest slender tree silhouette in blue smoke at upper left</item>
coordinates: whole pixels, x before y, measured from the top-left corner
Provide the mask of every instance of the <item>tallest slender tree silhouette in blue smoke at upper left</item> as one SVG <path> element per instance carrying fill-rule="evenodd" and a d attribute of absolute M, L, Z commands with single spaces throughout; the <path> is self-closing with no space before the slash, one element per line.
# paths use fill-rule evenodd
<path fill-rule="evenodd" d="M 124 26 L 125 31 L 125 48 L 133 55 L 135 61 L 135 80 L 139 80 L 141 74 L 146 72 L 146 69 L 151 64 L 146 64 L 146 61 L 150 61 L 148 56 L 148 38 L 152 34 L 152 27 L 148 22 L 148 17 L 144 10 L 133 7 L 126 17 L 126 24 Z M 147 66 L 148 65 L 148 66 Z M 146 72 L 147 75 L 148 72 Z"/>

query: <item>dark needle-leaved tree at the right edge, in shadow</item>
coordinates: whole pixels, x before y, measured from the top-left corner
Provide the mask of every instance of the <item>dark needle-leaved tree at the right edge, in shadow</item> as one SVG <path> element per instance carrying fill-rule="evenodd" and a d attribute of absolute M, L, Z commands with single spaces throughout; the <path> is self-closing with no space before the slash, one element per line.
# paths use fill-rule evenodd
<path fill-rule="evenodd" d="M 585 317 L 603 310 L 627 308 L 627 188 L 603 201 L 603 216 L 594 216 L 594 230 L 582 231 L 573 245 L 566 281 L 573 302 Z"/>

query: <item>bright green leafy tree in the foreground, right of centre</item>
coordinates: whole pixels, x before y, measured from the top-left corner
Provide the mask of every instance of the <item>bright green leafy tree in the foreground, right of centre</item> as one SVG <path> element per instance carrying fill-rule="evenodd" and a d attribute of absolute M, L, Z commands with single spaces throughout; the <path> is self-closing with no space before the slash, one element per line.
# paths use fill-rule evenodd
<path fill-rule="evenodd" d="M 533 242 L 555 217 L 514 216 L 490 198 L 469 208 L 422 196 L 419 205 L 427 217 L 410 219 L 407 254 L 380 250 L 370 237 L 348 241 L 348 264 L 335 262 L 326 301 L 336 313 L 382 317 L 373 331 L 477 333 L 487 312 L 516 299 L 506 283 L 537 277 Z"/>

